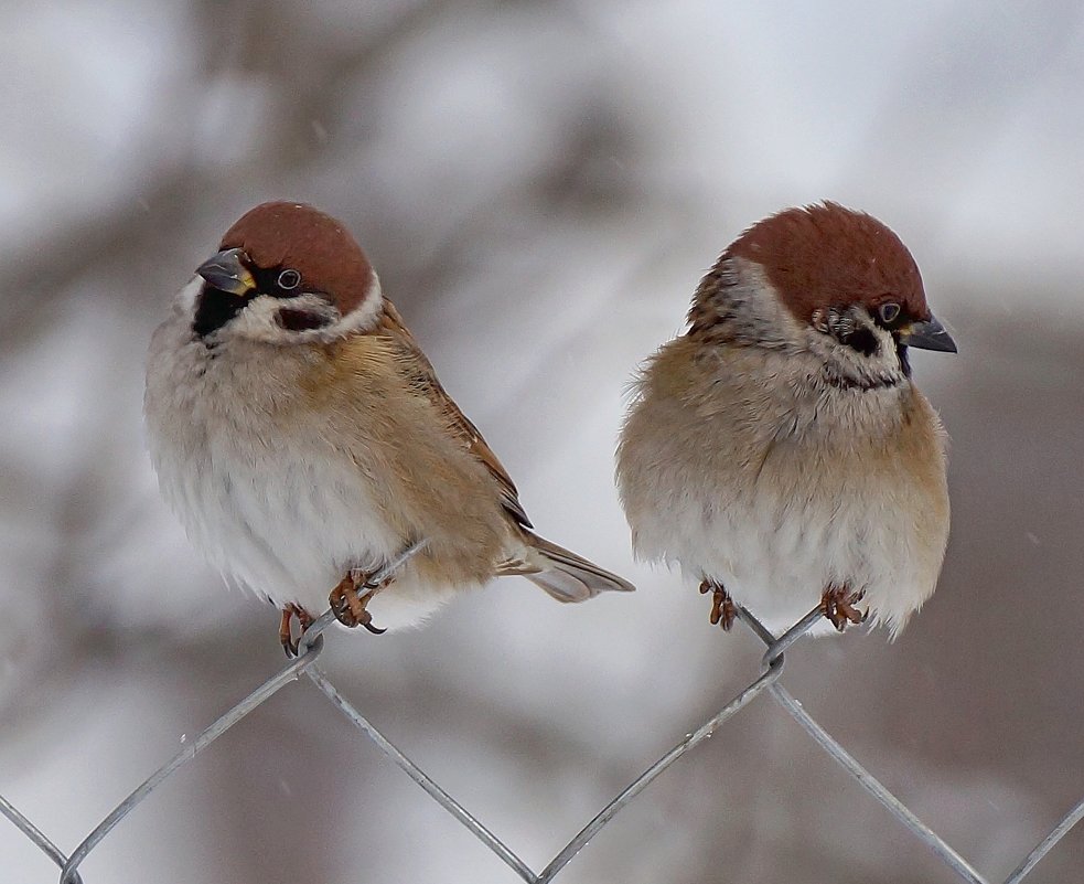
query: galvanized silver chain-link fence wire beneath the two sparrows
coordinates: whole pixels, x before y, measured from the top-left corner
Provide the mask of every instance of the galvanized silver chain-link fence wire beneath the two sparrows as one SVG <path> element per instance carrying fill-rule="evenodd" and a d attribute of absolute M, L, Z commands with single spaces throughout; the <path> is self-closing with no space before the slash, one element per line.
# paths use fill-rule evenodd
<path fill-rule="evenodd" d="M 407 560 L 416 555 L 425 546 L 425 541 L 418 542 L 388 563 L 374 575 L 372 583 L 379 584 L 390 577 Z M 7 817 L 22 831 L 28 839 L 36 844 L 46 856 L 61 867 L 60 884 L 82 884 L 78 866 L 87 855 L 101 843 L 104 839 L 131 813 L 179 768 L 204 752 L 214 741 L 237 724 L 249 712 L 267 702 L 286 684 L 298 679 L 302 673 L 320 690 L 320 692 L 337 709 L 346 720 L 367 736 L 388 758 L 398 765 L 415 782 L 417 782 L 433 801 L 447 810 L 464 829 L 473 834 L 483 845 L 491 850 L 502 862 L 516 873 L 527 884 L 549 884 L 572 859 L 601 832 L 613 818 L 630 802 L 636 799 L 658 776 L 688 752 L 711 736 L 728 720 L 737 715 L 758 696 L 769 694 L 779 703 L 809 736 L 842 767 L 870 795 L 872 795 L 890 813 L 916 838 L 925 843 L 934 854 L 944 862 L 946 869 L 956 878 L 969 884 L 990 884 L 977 872 L 957 851 L 944 839 L 923 823 L 899 798 L 889 791 L 872 774 L 863 768 L 824 727 L 818 724 L 801 703 L 780 683 L 784 668 L 784 651 L 801 639 L 811 627 L 818 622 L 823 614 L 820 608 L 814 608 L 791 629 L 775 637 L 769 632 L 756 618 L 747 609 L 739 606 L 739 617 L 752 632 L 766 646 L 763 657 L 763 668 L 760 674 L 748 686 L 738 692 L 718 713 L 701 724 L 691 733 L 686 734 L 677 744 L 653 765 L 644 769 L 629 786 L 611 800 L 594 818 L 565 844 L 554 859 L 540 872 L 535 872 L 522 858 L 505 844 L 493 831 L 468 811 L 459 801 L 441 788 L 404 752 L 373 726 L 335 688 L 324 672 L 315 665 L 323 650 L 322 631 L 333 621 L 329 610 L 318 618 L 305 631 L 300 641 L 297 659 L 290 661 L 279 672 L 253 691 L 248 696 L 226 712 L 214 724 L 201 733 L 191 744 L 151 774 L 124 801 L 121 801 L 92 832 L 84 839 L 69 856 L 66 856 L 34 823 L 15 809 L 3 796 L 0 796 L 0 814 Z M 1035 867 L 1040 860 L 1061 841 L 1065 834 L 1084 819 L 1084 799 L 1075 805 L 1053 827 L 1035 848 L 1021 861 L 1003 884 L 1020 884 Z"/>

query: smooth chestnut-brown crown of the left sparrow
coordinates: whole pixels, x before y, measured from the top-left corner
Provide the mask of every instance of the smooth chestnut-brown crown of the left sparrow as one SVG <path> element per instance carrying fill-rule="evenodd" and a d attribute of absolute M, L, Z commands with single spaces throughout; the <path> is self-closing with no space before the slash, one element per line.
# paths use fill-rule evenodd
<path fill-rule="evenodd" d="M 321 292 L 346 316 L 368 295 L 373 267 L 335 219 L 297 202 L 261 203 L 222 237 L 221 249 L 240 248 L 261 269 L 294 269 L 305 291 Z"/>

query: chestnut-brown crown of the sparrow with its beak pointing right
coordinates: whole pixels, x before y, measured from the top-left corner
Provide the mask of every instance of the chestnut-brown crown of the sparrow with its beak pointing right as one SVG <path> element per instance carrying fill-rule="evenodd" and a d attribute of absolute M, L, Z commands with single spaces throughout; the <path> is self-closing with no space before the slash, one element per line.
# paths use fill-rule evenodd
<path fill-rule="evenodd" d="M 814 311 L 894 301 L 931 318 L 919 267 L 900 237 L 865 212 L 824 202 L 758 222 L 723 254 L 759 264 L 784 305 L 809 322 Z"/>

